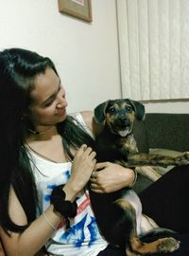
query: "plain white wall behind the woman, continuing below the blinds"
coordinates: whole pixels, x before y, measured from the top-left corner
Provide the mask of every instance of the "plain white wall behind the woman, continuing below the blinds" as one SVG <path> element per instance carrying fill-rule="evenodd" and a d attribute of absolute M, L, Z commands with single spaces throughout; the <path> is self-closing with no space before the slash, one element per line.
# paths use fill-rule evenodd
<path fill-rule="evenodd" d="M 91 24 L 61 14 L 57 0 L 0 0 L 0 49 L 49 56 L 67 91 L 69 112 L 121 97 L 116 0 L 92 0 Z M 150 102 L 146 112 L 189 113 L 189 101 Z"/>

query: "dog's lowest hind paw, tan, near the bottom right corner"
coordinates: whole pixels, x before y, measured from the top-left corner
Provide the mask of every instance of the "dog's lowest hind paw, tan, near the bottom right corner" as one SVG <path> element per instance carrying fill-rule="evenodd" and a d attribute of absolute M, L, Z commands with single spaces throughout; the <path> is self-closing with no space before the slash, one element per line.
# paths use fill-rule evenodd
<path fill-rule="evenodd" d="M 159 239 L 159 245 L 157 246 L 158 252 L 168 253 L 177 250 L 180 247 L 180 241 L 173 237 L 165 237 Z"/>

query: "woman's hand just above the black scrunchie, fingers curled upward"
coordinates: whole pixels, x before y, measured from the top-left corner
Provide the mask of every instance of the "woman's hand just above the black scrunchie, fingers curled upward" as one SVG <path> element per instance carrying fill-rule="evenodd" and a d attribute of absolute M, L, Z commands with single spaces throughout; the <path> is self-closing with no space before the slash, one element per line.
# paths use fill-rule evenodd
<path fill-rule="evenodd" d="M 74 200 L 77 192 L 80 192 L 89 181 L 95 167 L 95 152 L 87 145 L 82 145 L 75 154 L 71 176 L 63 191 L 66 193 L 66 200 Z"/>

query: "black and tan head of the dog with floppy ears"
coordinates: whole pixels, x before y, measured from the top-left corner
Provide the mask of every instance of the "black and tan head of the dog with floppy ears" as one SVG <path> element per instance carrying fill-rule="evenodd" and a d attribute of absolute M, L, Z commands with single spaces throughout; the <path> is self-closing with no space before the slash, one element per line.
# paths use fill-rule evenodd
<path fill-rule="evenodd" d="M 145 106 L 129 99 L 105 101 L 95 107 L 94 119 L 97 123 L 105 122 L 113 134 L 127 137 L 134 119 L 145 119 Z"/>

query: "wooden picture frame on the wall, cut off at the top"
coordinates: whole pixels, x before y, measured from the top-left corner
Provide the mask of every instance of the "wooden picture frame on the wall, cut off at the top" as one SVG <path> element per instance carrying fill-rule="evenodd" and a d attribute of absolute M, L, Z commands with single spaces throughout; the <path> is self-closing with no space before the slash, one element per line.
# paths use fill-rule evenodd
<path fill-rule="evenodd" d="M 58 0 L 59 11 L 92 22 L 91 0 Z"/>

